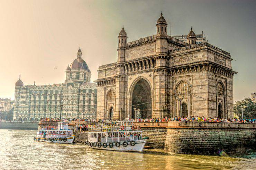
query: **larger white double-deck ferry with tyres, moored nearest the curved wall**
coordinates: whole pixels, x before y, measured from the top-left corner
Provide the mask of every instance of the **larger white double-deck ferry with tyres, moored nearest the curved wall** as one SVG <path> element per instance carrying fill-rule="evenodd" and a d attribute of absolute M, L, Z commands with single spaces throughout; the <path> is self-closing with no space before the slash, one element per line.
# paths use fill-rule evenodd
<path fill-rule="evenodd" d="M 142 152 L 147 139 L 133 121 L 103 122 L 89 128 L 85 144 L 93 149 Z"/>

